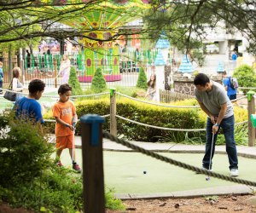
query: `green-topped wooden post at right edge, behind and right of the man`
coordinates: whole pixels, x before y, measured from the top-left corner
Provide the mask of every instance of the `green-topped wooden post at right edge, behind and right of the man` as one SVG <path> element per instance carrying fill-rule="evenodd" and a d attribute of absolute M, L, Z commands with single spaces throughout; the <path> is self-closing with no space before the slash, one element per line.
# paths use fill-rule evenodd
<path fill-rule="evenodd" d="M 251 121 L 251 114 L 255 113 L 255 100 L 254 100 L 254 92 L 247 92 L 247 103 L 248 103 L 248 146 L 253 147 L 255 144 L 255 130 L 253 128 L 253 124 Z"/>

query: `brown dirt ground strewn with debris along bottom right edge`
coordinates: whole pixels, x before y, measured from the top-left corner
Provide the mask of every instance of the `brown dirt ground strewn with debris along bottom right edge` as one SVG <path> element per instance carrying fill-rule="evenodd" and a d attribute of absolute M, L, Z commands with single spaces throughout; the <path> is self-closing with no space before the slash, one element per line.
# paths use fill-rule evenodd
<path fill-rule="evenodd" d="M 170 212 L 256 212 L 256 206 L 245 203 L 247 196 L 212 196 L 195 199 L 138 199 L 125 200 L 125 211 L 107 210 L 107 213 L 170 213 Z"/>

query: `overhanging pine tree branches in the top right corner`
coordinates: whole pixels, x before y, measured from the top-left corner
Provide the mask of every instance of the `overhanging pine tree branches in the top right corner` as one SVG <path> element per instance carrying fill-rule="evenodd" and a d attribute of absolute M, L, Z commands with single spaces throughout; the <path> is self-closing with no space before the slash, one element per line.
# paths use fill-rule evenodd
<path fill-rule="evenodd" d="M 237 29 L 247 37 L 251 51 L 255 52 L 255 14 L 255 1 L 156 0 L 143 18 L 144 31 L 152 39 L 167 32 L 171 43 L 189 54 L 191 49 L 201 48 L 202 39 L 217 27 L 225 29 L 226 33 Z"/>

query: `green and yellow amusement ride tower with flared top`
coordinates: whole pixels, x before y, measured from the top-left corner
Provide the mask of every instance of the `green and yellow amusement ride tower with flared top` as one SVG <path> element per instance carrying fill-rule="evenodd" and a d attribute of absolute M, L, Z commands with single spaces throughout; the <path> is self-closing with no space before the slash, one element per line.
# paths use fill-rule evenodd
<path fill-rule="evenodd" d="M 45 0 L 48 3 L 49 0 Z M 53 0 L 53 2 L 55 2 Z M 79 76 L 80 82 L 91 82 L 97 68 L 102 69 L 106 81 L 121 80 L 119 69 L 119 46 L 125 46 L 125 37 L 112 37 L 118 32 L 120 26 L 136 20 L 140 14 L 149 9 L 148 0 L 111 0 L 111 1 L 91 1 L 93 5 L 89 8 L 81 9 L 83 3 L 89 3 L 88 0 L 62 0 L 61 6 L 54 9 L 65 9 L 66 3 L 81 3 L 73 5 L 78 7 L 78 13 L 74 18 L 68 17 L 61 22 L 73 28 L 82 29 L 84 38 L 81 43 L 84 46 L 84 68 L 85 72 Z M 132 64 L 132 62 L 131 62 Z"/>

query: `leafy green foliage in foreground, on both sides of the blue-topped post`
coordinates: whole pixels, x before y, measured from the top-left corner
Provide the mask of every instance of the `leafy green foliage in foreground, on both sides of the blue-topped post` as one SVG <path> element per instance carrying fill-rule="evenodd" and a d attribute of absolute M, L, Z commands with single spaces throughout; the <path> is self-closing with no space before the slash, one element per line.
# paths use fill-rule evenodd
<path fill-rule="evenodd" d="M 82 176 L 55 166 L 54 148 L 36 125 L 0 115 L 0 202 L 46 212 L 77 213 L 83 209 Z M 106 190 L 106 207 L 124 210 L 113 190 Z"/>

